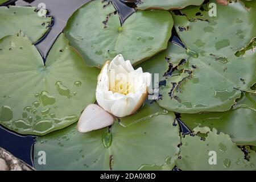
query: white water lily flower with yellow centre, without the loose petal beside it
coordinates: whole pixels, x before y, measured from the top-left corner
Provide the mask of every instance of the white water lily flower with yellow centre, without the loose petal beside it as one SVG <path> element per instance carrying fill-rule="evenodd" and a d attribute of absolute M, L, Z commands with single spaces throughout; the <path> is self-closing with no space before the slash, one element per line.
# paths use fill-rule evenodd
<path fill-rule="evenodd" d="M 150 83 L 150 73 L 143 73 L 141 67 L 134 70 L 129 60 L 117 55 L 104 64 L 98 76 L 98 105 L 116 117 L 134 114 L 146 100 Z"/>

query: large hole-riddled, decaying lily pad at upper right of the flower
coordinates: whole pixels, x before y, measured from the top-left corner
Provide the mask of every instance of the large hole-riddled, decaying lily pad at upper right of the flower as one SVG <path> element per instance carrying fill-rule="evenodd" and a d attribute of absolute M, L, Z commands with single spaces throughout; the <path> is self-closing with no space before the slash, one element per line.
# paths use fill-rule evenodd
<path fill-rule="evenodd" d="M 192 13 L 199 11 L 197 9 L 187 7 L 182 10 L 187 16 L 174 15 L 176 30 L 180 30 L 178 34 L 187 46 L 183 53 L 179 51 L 180 59 L 175 60 L 186 61 L 181 61 L 172 69 L 173 74 L 166 78 L 166 86 L 160 88 L 163 97 L 158 104 L 179 113 L 227 111 L 240 97 L 240 90 L 255 93 L 250 87 L 256 82 L 256 53 L 252 49 L 240 57 L 235 53 L 256 36 L 255 22 L 251 22 L 256 11 L 248 11 L 240 2 L 233 2 L 228 6 L 217 5 L 217 17 L 209 17 L 208 11 L 203 11 L 201 19 L 191 19 Z M 241 17 L 244 17 L 241 24 L 236 23 Z M 213 28 L 212 32 L 208 31 L 209 26 Z M 241 26 L 247 27 L 246 30 Z M 228 29 L 223 31 L 221 27 Z M 246 34 L 238 31 L 240 29 Z M 240 39 L 237 32 L 244 38 Z M 160 53 L 161 56 L 152 57 L 147 63 L 152 67 L 156 63 L 166 65 L 163 57 L 177 55 L 172 47 L 169 45 L 165 52 Z M 169 62 L 171 67 L 177 64 L 176 61 Z M 159 73 L 167 71 L 166 68 L 162 67 Z"/>

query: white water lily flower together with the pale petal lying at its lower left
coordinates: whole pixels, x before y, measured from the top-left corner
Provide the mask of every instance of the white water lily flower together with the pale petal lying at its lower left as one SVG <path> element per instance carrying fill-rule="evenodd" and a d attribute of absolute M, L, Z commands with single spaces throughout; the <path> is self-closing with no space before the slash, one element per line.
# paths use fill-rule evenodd
<path fill-rule="evenodd" d="M 82 112 L 77 130 L 86 133 L 102 129 L 114 123 L 114 117 L 134 114 L 148 96 L 151 74 L 142 68 L 134 70 L 130 61 L 117 55 L 107 61 L 98 76 L 96 99 L 98 105 L 90 104 Z"/>

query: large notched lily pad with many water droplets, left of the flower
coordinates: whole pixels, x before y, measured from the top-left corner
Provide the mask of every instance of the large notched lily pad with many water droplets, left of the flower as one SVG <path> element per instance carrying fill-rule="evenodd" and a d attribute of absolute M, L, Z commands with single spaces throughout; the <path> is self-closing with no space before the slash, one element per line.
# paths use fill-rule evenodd
<path fill-rule="evenodd" d="M 46 64 L 23 32 L 6 36 L 0 40 L 0 124 L 35 135 L 71 125 L 95 101 L 98 73 L 84 64 L 63 34 Z"/>

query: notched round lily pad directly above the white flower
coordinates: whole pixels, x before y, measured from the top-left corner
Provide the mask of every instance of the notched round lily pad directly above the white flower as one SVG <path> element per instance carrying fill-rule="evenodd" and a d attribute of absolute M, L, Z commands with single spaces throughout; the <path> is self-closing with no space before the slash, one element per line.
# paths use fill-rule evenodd
<path fill-rule="evenodd" d="M 71 16 L 64 32 L 86 64 L 101 67 L 118 53 L 137 64 L 166 49 L 172 26 L 164 10 L 138 10 L 121 25 L 112 3 L 95 0 Z"/>

